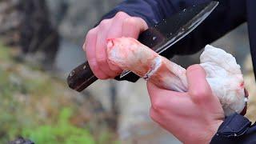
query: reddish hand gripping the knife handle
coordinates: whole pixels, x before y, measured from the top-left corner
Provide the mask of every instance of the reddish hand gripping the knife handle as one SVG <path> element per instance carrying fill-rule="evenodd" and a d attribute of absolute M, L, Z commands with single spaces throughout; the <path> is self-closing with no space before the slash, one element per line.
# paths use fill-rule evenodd
<path fill-rule="evenodd" d="M 87 61 L 94 75 L 99 79 L 108 79 L 122 72 L 118 66 L 107 62 L 106 40 L 108 38 L 124 36 L 137 39 L 138 35 L 146 29 L 148 26 L 142 18 L 118 12 L 114 18 L 105 19 L 90 30 L 86 35 L 83 50 L 86 52 Z"/>

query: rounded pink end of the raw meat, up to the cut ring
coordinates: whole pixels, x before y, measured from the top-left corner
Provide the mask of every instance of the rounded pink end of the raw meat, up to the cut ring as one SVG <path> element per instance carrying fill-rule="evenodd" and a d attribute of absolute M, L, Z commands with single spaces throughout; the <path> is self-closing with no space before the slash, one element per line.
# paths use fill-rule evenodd
<path fill-rule="evenodd" d="M 109 61 L 114 65 L 122 70 L 132 70 L 142 77 L 151 70 L 154 58 L 158 57 L 153 50 L 142 46 L 133 38 L 109 39 L 107 54 Z"/>

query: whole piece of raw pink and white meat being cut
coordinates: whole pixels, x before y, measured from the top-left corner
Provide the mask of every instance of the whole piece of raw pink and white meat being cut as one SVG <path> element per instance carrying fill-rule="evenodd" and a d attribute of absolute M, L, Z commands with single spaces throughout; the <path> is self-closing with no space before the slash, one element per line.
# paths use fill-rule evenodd
<path fill-rule="evenodd" d="M 140 77 L 167 90 L 186 92 L 186 69 L 158 55 L 134 38 L 111 38 L 107 45 L 108 61 L 122 70 L 131 70 Z M 226 116 L 241 113 L 247 98 L 240 66 L 231 54 L 207 45 L 200 57 L 210 84 Z"/>

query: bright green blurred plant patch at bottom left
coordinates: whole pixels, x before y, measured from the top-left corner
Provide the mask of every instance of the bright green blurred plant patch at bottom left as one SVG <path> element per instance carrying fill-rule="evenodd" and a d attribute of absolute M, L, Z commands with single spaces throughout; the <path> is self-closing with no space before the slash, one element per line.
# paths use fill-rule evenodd
<path fill-rule="evenodd" d="M 73 126 L 69 122 L 71 110 L 65 108 L 59 114 L 59 121 L 55 126 L 44 125 L 35 129 L 27 129 L 22 131 L 22 136 L 30 138 L 37 144 L 44 143 L 81 143 L 94 144 L 93 136 L 85 129 Z"/>

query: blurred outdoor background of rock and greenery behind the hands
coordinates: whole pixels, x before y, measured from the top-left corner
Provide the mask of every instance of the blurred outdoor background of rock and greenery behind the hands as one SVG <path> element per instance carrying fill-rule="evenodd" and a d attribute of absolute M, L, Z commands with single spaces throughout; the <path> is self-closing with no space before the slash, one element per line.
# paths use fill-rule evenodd
<path fill-rule="evenodd" d="M 0 143 L 181 143 L 149 117 L 146 82 L 98 81 L 77 93 L 66 77 L 85 61 L 86 32 L 121 0 L 0 0 Z M 246 23 L 213 43 L 237 58 L 256 94 Z M 175 56 L 184 67 L 199 55 Z"/>

